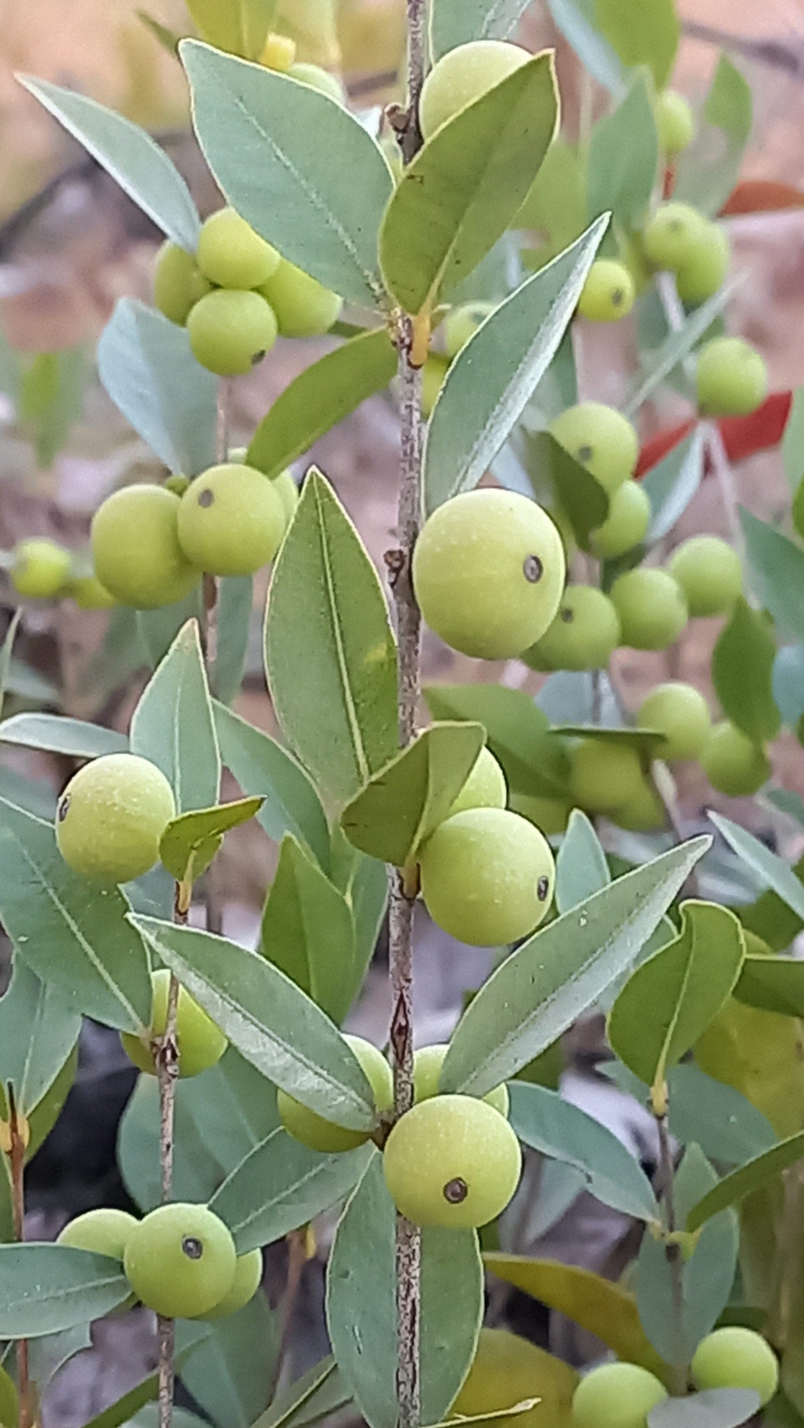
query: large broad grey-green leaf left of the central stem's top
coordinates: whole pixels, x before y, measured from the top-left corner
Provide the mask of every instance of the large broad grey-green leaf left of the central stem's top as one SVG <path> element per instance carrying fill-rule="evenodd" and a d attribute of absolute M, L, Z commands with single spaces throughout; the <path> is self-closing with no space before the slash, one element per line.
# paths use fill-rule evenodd
<path fill-rule="evenodd" d="M 228 201 L 324 287 L 381 306 L 377 233 L 393 177 L 380 146 L 308 84 L 197 40 L 179 49 L 196 133 Z"/>

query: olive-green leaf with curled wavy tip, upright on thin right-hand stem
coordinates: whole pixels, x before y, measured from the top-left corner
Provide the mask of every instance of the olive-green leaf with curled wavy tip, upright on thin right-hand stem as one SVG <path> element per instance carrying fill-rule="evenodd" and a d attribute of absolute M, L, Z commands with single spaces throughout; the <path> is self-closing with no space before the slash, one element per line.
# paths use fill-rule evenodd
<path fill-rule="evenodd" d="M 715 902 L 681 904 L 678 937 L 637 967 L 608 1018 L 611 1047 L 634 1075 L 661 1091 L 670 1067 L 730 997 L 744 955 L 734 912 Z"/>

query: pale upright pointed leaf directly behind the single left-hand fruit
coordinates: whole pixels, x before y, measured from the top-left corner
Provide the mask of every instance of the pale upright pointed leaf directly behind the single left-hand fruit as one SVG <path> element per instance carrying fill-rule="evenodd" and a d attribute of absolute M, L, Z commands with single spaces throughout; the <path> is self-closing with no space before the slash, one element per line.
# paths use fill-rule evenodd
<path fill-rule="evenodd" d="M 217 803 L 220 754 L 196 620 L 189 620 L 143 690 L 130 725 L 131 753 L 150 758 L 179 813 Z"/>

